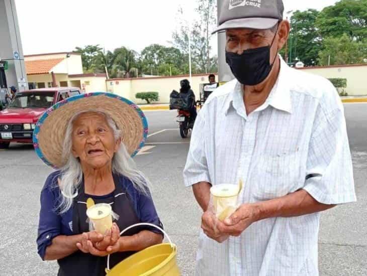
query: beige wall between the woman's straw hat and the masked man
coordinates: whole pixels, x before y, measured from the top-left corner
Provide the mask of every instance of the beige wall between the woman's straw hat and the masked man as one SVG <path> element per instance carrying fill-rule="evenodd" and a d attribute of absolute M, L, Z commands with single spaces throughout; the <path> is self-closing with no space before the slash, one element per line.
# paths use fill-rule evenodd
<path fill-rule="evenodd" d="M 195 92 L 197 99 L 200 98 L 200 84 L 208 83 L 208 75 L 195 75 L 192 76 L 191 88 Z M 138 92 L 158 92 L 159 101 L 155 103 L 168 103 L 169 94 L 172 90 L 179 91 L 179 82 L 182 79 L 189 79 L 189 76 L 178 77 L 156 77 L 156 78 L 137 78 L 127 80 L 108 80 L 107 89 L 109 92 L 126 97 L 138 104 L 146 103 L 146 101 L 135 98 L 135 94 Z M 216 75 L 216 79 L 218 76 Z"/>

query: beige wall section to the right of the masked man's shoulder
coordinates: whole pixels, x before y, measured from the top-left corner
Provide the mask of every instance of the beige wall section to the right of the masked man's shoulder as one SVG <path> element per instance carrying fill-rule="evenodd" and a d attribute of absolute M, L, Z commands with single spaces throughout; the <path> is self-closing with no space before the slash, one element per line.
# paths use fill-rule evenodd
<path fill-rule="evenodd" d="M 367 76 L 367 66 L 315 67 L 300 70 L 328 79 L 347 79 L 346 92 L 348 95 L 367 95 L 367 87 L 364 81 L 364 78 Z"/>

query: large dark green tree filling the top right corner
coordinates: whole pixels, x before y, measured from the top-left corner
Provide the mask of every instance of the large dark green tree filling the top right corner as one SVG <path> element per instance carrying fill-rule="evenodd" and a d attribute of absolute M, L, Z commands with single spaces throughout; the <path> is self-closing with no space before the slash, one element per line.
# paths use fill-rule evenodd
<path fill-rule="evenodd" d="M 362 41 L 367 38 L 367 0 L 340 0 L 322 10 L 316 21 L 322 37 L 341 37 Z"/>

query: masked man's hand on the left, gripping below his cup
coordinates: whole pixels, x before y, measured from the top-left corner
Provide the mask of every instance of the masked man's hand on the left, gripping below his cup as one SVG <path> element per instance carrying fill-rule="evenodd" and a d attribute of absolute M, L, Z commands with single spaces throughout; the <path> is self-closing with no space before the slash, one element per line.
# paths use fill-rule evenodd
<path fill-rule="evenodd" d="M 229 237 L 228 234 L 219 231 L 219 227 L 223 228 L 225 225 L 215 216 L 211 210 L 208 210 L 203 214 L 201 227 L 208 237 L 219 243 L 222 243 Z"/>

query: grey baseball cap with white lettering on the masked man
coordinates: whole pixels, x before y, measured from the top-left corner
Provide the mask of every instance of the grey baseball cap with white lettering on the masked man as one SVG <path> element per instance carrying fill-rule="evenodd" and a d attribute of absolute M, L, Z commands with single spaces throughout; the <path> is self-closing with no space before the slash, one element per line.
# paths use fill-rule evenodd
<path fill-rule="evenodd" d="M 283 20 L 283 0 L 224 0 L 218 28 L 266 30 Z"/>

